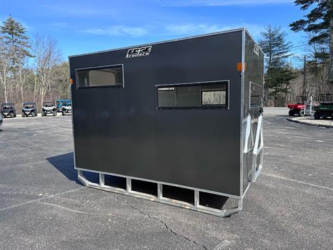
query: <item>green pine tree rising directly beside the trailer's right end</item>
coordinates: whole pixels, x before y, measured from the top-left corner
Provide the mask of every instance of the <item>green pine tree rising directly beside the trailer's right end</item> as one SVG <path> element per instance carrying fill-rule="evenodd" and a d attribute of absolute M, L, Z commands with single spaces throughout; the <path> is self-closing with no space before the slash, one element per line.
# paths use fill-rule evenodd
<path fill-rule="evenodd" d="M 262 32 L 259 44 L 266 57 L 265 101 L 273 97 L 274 106 L 284 105 L 278 102 L 283 101 L 289 91 L 290 81 L 296 78 L 287 62 L 291 56 L 289 51 L 292 44 L 286 41 L 286 33 L 283 33 L 281 28 L 272 26 L 267 26 L 266 31 Z"/>

